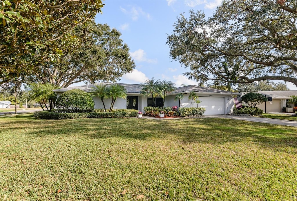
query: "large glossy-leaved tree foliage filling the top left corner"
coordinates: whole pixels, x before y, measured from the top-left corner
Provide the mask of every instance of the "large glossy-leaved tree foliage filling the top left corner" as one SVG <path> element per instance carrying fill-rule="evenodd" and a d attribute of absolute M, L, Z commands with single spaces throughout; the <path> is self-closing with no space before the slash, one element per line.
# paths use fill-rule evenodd
<path fill-rule="evenodd" d="M 1 1 L 0 77 L 25 76 L 38 71 L 37 64 L 58 61 L 65 48 L 79 42 L 71 29 L 102 7 L 101 0 Z"/>

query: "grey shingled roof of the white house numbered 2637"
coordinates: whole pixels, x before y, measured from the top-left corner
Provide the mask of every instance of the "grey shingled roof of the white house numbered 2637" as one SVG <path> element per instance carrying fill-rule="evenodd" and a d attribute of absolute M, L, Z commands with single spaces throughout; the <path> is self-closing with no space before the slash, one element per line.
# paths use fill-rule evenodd
<path fill-rule="evenodd" d="M 55 89 L 53 91 L 59 93 L 59 92 L 69 91 L 71 89 L 81 89 L 83 91 L 90 92 L 95 85 L 100 85 L 100 84 L 112 85 L 114 83 L 110 83 L 110 82 L 95 83 L 95 84 L 90 84 L 90 85 Z M 117 84 L 124 86 L 126 88 L 128 94 L 129 93 L 130 94 L 133 94 L 133 93 L 140 94 L 141 87 L 138 84 L 122 84 L 122 83 L 117 83 Z M 188 85 L 188 86 L 184 86 L 184 87 L 178 87 L 178 88 L 176 88 L 175 91 L 171 92 L 168 95 L 179 94 L 179 93 L 189 93 L 191 91 L 195 91 L 197 93 L 241 95 L 240 93 L 234 93 L 231 91 L 223 91 L 223 90 L 209 88 L 209 87 L 200 87 L 200 86 L 196 86 L 196 85 Z"/>

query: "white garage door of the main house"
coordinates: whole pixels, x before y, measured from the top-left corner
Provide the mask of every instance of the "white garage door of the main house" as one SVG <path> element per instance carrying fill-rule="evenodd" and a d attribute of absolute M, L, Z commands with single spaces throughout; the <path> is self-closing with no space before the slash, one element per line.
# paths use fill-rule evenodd
<path fill-rule="evenodd" d="M 204 107 L 206 109 L 205 115 L 208 114 L 224 114 L 224 97 L 201 97 L 199 96 L 201 103 L 198 107 Z"/>

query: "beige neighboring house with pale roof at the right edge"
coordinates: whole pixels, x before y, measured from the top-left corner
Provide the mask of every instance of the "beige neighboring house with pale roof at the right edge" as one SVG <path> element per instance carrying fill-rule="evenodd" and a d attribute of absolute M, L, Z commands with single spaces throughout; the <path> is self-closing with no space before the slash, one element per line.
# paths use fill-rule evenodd
<path fill-rule="evenodd" d="M 289 100 L 290 96 L 297 96 L 297 91 L 257 91 L 258 94 L 263 94 L 266 97 L 272 97 L 272 101 L 266 102 L 266 112 L 282 112 L 283 107 L 294 107 L 297 103 L 292 103 Z M 265 112 L 265 102 L 259 106 Z"/>

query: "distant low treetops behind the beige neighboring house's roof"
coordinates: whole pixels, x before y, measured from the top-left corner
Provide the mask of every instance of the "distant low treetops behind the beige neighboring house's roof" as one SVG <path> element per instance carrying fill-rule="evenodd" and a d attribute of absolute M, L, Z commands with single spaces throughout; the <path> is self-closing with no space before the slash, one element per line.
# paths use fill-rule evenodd
<path fill-rule="evenodd" d="M 287 85 L 285 85 L 282 82 L 269 82 L 267 80 L 265 81 L 259 81 L 259 82 L 253 82 L 250 84 L 238 84 L 236 91 L 243 93 L 243 92 L 256 92 L 256 91 L 287 91 L 289 88 L 287 88 Z"/>

